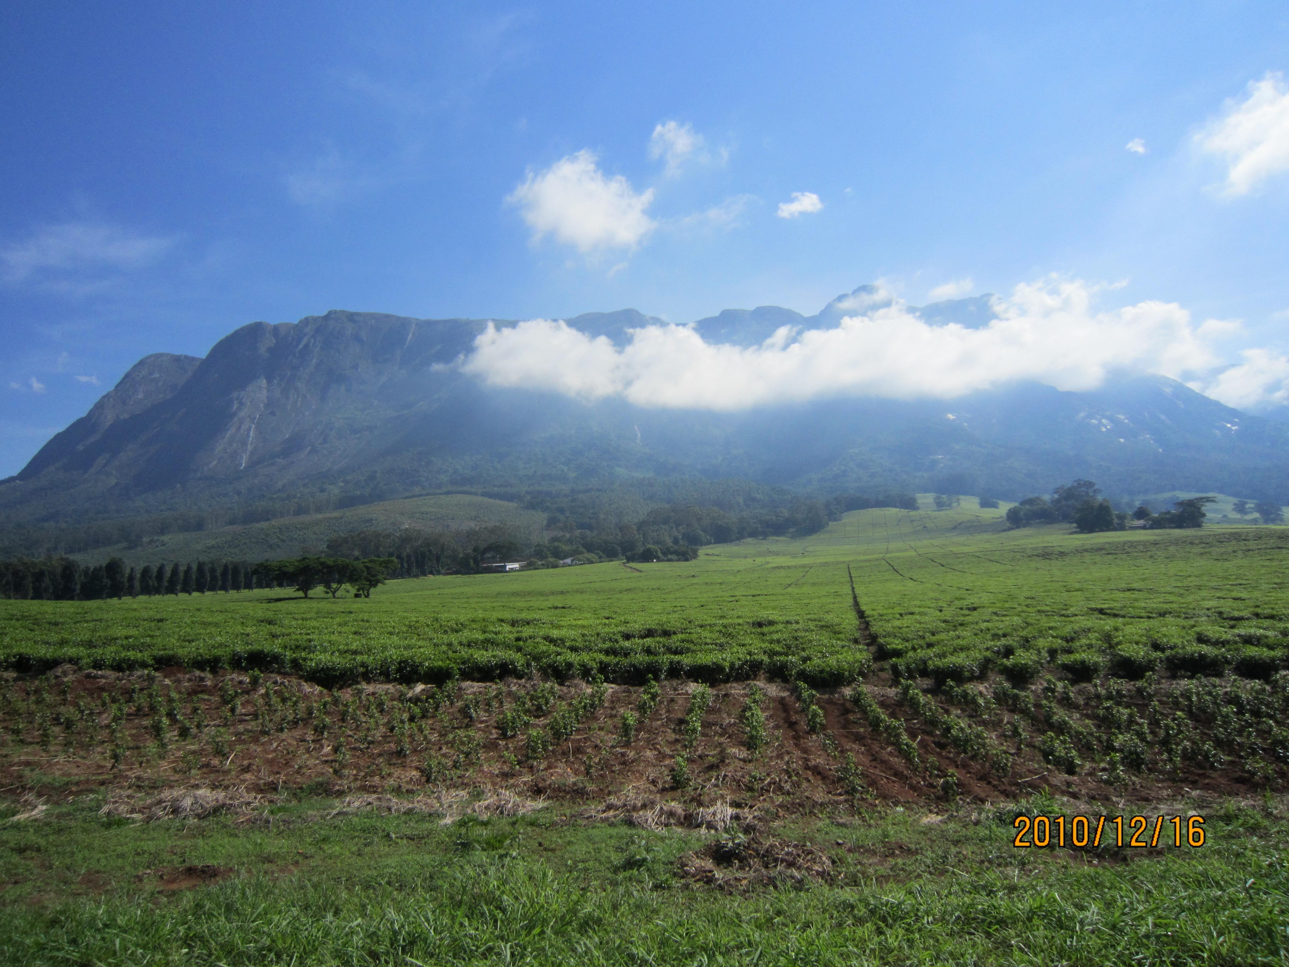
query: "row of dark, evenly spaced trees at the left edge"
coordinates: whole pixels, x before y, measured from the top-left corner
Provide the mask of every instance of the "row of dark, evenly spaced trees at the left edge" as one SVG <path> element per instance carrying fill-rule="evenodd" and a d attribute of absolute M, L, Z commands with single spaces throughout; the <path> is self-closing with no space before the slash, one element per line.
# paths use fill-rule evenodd
<path fill-rule="evenodd" d="M 155 594 L 205 594 L 281 587 L 246 561 L 126 567 L 113 557 L 101 565 L 79 565 L 70 557 L 19 557 L 0 561 L 0 598 L 36 601 L 102 601 Z"/>

